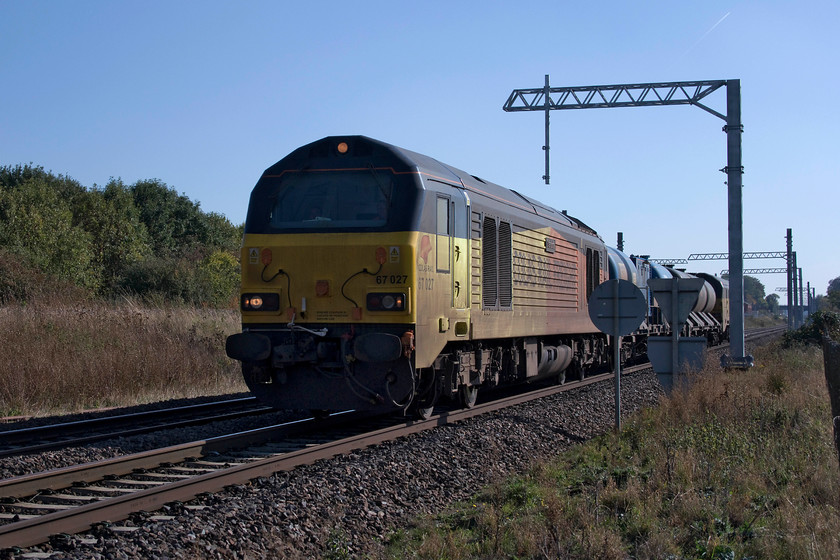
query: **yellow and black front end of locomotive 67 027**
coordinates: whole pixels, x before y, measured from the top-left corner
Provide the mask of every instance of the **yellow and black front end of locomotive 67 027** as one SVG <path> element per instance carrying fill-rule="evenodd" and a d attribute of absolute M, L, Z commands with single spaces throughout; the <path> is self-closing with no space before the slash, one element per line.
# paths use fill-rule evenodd
<path fill-rule="evenodd" d="M 262 401 L 410 404 L 417 181 L 409 164 L 360 138 L 304 146 L 263 174 L 242 246 L 243 332 L 227 342 Z"/>

